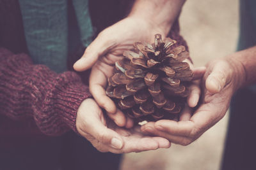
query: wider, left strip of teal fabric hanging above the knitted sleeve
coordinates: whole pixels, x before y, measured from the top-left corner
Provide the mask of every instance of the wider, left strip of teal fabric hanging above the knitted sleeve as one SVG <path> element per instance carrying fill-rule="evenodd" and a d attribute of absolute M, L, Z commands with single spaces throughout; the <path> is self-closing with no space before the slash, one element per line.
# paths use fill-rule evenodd
<path fill-rule="evenodd" d="M 19 0 L 29 55 L 58 73 L 67 69 L 66 0 Z"/>

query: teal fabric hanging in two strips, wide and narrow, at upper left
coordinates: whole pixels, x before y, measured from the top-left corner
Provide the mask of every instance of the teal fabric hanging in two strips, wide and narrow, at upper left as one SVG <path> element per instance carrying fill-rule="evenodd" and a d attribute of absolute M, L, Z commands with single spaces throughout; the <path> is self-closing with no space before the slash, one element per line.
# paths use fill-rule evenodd
<path fill-rule="evenodd" d="M 92 42 L 88 0 L 70 1 L 19 0 L 29 55 L 35 64 L 44 64 L 57 73 L 67 70 L 68 53 L 74 46 Z M 74 8 L 77 27 L 69 25 L 70 8 Z"/>

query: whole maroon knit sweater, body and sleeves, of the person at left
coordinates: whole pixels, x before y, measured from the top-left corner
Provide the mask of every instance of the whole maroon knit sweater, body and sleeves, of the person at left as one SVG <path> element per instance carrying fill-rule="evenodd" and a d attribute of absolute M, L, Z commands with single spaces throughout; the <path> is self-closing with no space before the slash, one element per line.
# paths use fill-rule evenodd
<path fill-rule="evenodd" d="M 100 8 L 97 1 L 90 1 L 91 8 Z M 100 10 L 106 15 L 92 10 L 92 22 L 98 31 L 127 13 L 118 7 L 124 8 L 132 3 L 112 1 L 113 13 L 106 12 L 106 8 Z M 46 66 L 33 64 L 26 55 L 28 50 L 18 2 L 0 0 L 0 148 L 47 138 L 44 134 L 59 136 L 70 129 L 76 131 L 77 109 L 84 99 L 90 97 L 88 87 L 74 71 L 56 74 Z M 186 46 L 179 35 L 178 22 L 169 36 L 179 45 Z M 71 67 L 74 61 L 76 59 L 68 58 Z"/>

